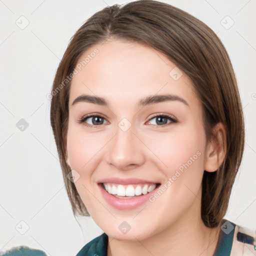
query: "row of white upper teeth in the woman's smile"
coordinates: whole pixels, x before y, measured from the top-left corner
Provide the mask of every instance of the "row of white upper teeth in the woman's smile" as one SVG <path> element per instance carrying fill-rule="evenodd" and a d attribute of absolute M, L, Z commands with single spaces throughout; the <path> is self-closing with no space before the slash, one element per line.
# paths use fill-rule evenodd
<path fill-rule="evenodd" d="M 127 185 L 126 188 L 123 185 L 110 185 L 109 183 L 103 183 L 105 190 L 110 194 L 116 194 L 119 196 L 134 196 L 151 192 L 155 189 L 156 184 L 149 185 Z"/>

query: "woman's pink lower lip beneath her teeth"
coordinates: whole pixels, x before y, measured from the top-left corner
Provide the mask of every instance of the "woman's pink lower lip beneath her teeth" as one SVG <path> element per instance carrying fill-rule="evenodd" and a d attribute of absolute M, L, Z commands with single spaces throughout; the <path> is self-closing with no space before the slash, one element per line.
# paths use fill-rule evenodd
<path fill-rule="evenodd" d="M 127 209 L 135 209 L 145 203 L 149 200 L 150 195 L 152 195 L 155 192 L 155 189 L 158 188 L 158 186 L 152 190 L 151 192 L 147 194 L 142 194 L 135 196 L 134 198 L 118 198 L 115 197 L 112 194 L 109 194 L 102 186 L 101 184 L 98 184 L 99 189 L 102 193 L 102 196 L 106 200 L 108 204 L 110 204 L 112 207 L 119 209 L 119 210 L 127 210 Z"/>

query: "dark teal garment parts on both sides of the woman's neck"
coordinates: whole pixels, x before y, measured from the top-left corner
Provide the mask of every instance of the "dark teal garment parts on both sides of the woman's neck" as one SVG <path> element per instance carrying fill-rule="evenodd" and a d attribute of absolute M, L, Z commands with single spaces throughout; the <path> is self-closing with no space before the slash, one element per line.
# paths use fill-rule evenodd
<path fill-rule="evenodd" d="M 222 220 L 224 223 L 225 220 Z M 230 222 L 235 228 L 235 224 Z M 213 256 L 229 256 L 233 243 L 234 228 L 226 234 L 222 229 L 219 235 L 218 243 Z M 108 236 L 103 233 L 90 242 L 86 243 L 76 256 L 106 256 L 107 255 Z"/>

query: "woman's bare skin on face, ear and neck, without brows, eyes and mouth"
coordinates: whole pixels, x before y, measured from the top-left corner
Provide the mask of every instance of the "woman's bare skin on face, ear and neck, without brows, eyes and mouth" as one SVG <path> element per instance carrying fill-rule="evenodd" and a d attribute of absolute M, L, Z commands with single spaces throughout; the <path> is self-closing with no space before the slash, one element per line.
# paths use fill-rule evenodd
<path fill-rule="evenodd" d="M 216 125 L 217 142 L 207 142 L 202 106 L 184 73 L 174 80 L 175 64 L 148 46 L 109 39 L 93 45 L 81 58 L 99 52 L 73 77 L 69 95 L 67 163 L 79 173 L 76 189 L 96 224 L 108 235 L 107 255 L 213 255 L 219 227 L 200 218 L 203 171 L 215 171 L 224 158 L 225 131 Z M 175 94 L 188 105 L 164 101 L 139 107 L 148 95 Z M 97 95 L 108 106 L 73 100 Z M 86 127 L 78 120 L 94 113 L 103 124 Z M 157 124 L 152 114 L 170 114 L 177 122 Z M 127 131 L 118 127 L 126 118 Z M 92 118 L 86 120 L 92 123 Z M 86 123 L 85 122 L 85 123 Z M 107 177 L 137 177 L 161 184 L 196 152 L 200 156 L 154 202 L 118 210 L 102 197 L 97 181 Z M 126 221 L 131 229 L 122 233 Z M 185 246 L 184 246 L 185 244 Z"/>

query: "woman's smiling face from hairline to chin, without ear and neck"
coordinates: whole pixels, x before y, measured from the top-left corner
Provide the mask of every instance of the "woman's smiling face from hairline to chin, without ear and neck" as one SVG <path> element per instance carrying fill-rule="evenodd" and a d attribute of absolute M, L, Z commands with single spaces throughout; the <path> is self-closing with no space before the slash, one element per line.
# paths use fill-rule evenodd
<path fill-rule="evenodd" d="M 200 219 L 206 137 L 188 76 L 155 49 L 121 40 L 92 46 L 76 71 L 67 163 L 97 225 L 135 240 Z"/>

